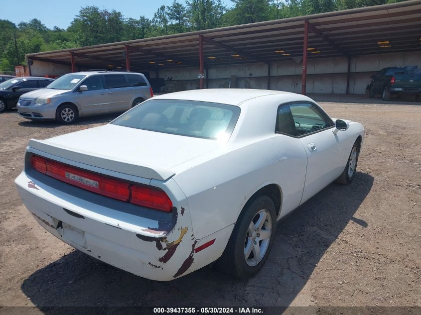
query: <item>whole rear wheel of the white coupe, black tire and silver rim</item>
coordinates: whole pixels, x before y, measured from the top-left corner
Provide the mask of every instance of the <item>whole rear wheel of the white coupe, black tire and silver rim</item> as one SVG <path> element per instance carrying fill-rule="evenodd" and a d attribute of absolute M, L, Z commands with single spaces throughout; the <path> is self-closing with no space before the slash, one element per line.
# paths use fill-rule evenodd
<path fill-rule="evenodd" d="M 276 218 L 275 205 L 271 198 L 260 196 L 254 199 L 241 212 L 216 266 L 239 279 L 259 272 L 275 239 Z M 257 222 L 261 222 L 260 228 L 255 225 Z M 255 258 L 255 255 L 260 257 Z"/>

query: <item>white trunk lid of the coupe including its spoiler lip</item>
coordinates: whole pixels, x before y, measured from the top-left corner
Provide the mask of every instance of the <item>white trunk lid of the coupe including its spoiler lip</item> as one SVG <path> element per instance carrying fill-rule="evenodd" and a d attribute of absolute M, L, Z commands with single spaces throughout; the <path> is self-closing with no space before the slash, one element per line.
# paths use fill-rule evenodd
<path fill-rule="evenodd" d="M 215 140 L 113 124 L 29 142 L 33 149 L 75 162 L 162 181 L 175 174 L 175 166 L 221 145 Z"/>

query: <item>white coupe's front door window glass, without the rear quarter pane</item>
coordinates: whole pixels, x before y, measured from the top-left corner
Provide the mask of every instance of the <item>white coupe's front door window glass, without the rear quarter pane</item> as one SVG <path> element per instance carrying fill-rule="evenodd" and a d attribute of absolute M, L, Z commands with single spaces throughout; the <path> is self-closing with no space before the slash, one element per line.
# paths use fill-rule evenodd
<path fill-rule="evenodd" d="M 289 108 L 297 136 L 333 126 L 332 121 L 314 104 L 290 104 Z"/>

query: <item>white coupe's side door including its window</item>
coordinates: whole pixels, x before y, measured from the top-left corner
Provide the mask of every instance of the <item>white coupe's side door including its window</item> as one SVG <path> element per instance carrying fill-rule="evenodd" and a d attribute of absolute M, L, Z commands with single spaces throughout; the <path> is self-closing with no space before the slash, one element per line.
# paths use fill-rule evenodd
<path fill-rule="evenodd" d="M 334 122 L 313 103 L 289 104 L 296 136 L 307 154 L 301 203 L 333 182 L 343 171 L 344 134 L 334 134 Z"/>

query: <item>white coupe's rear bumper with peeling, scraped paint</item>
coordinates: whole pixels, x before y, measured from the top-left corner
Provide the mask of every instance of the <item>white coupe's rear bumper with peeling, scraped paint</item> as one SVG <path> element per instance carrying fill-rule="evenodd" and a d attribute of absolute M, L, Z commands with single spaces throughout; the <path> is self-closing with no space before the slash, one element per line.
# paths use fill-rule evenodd
<path fill-rule="evenodd" d="M 159 222 L 75 198 L 24 171 L 15 184 L 24 205 L 42 227 L 117 268 L 143 278 L 169 281 L 211 262 L 207 262 L 209 257 L 193 257 L 195 247 L 208 239 L 194 238 L 183 201 L 173 202 L 178 213 L 172 229 L 157 231 L 149 227 L 159 226 Z"/>

